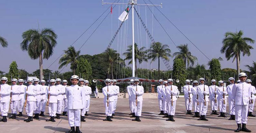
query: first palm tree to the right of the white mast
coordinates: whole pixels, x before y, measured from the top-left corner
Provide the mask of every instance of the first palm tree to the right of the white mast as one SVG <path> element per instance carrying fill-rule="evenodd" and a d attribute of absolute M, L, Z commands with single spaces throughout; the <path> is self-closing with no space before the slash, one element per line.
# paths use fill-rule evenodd
<path fill-rule="evenodd" d="M 158 78 L 160 78 L 160 58 L 164 58 L 169 61 L 169 57 L 171 57 L 171 50 L 167 44 L 161 44 L 160 42 L 156 42 L 150 46 L 150 49 L 147 50 L 148 59 L 155 61 L 158 58 Z"/>

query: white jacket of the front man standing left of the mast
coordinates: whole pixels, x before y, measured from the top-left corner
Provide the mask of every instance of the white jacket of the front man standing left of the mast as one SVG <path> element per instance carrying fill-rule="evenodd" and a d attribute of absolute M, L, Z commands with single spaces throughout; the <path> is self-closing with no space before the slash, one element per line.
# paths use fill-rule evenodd
<path fill-rule="evenodd" d="M 78 85 L 66 87 L 68 109 L 83 109 L 85 107 L 84 90 Z"/>

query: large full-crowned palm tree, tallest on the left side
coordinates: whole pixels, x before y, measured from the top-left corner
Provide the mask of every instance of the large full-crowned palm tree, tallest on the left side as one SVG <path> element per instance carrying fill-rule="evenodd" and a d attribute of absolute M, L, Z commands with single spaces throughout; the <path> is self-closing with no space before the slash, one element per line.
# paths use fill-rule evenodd
<path fill-rule="evenodd" d="M 42 30 L 29 29 L 22 33 L 24 39 L 20 43 L 23 51 L 28 51 L 31 59 L 39 58 L 40 80 L 43 79 L 43 59 L 49 59 L 53 54 L 53 48 L 57 44 L 57 34 L 50 28 Z"/>

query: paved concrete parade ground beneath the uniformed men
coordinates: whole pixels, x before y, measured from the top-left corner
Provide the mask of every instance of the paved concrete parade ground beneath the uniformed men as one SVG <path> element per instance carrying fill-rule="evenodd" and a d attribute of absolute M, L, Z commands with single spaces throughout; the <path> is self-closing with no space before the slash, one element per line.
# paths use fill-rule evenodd
<path fill-rule="evenodd" d="M 210 105 L 209 105 L 210 107 Z M 103 99 L 91 98 L 89 116 L 86 122 L 82 122 L 83 133 L 233 133 L 237 128 L 234 120 L 228 118 L 219 118 L 216 115 L 210 115 L 211 109 L 208 107 L 207 118 L 209 121 L 198 121 L 192 118 L 192 115 L 185 115 L 184 98 L 178 99 L 176 103 L 175 122 L 166 121 L 166 118 L 159 116 L 158 100 L 144 99 L 142 107 L 141 122 L 131 121 L 128 116 L 128 99 L 118 99 L 117 112 L 112 122 L 102 121 L 105 118 Z M 57 128 L 56 122 L 46 122 L 49 118 L 48 107 L 46 108 L 46 117 L 40 117 L 39 120 L 33 119 L 32 122 L 24 122 L 27 115 L 17 117 L 17 119 L 8 119 L 7 122 L 0 122 L 0 133 L 63 133 L 70 129 L 68 118 L 65 117 Z M 254 110 L 255 112 L 255 110 Z M 24 112 L 25 114 L 25 112 Z M 8 115 L 8 117 L 11 114 Z M 256 132 L 256 118 L 250 117 L 247 128 Z"/>

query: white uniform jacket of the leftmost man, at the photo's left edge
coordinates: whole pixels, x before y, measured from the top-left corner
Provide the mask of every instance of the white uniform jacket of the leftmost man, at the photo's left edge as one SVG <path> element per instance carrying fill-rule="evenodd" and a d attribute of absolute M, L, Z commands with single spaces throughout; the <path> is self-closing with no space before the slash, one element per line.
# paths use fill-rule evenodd
<path fill-rule="evenodd" d="M 1 103 L 10 102 L 11 86 L 8 84 L 1 84 Z"/>

